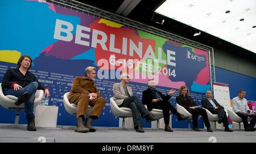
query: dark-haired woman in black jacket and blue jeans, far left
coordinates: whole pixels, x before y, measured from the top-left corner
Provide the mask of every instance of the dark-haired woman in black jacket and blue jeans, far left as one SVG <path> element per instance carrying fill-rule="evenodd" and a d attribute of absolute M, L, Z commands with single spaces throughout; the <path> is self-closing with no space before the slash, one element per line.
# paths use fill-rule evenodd
<path fill-rule="evenodd" d="M 34 99 L 37 89 L 44 90 L 44 95 L 49 97 L 49 90 L 36 80 L 33 73 L 28 70 L 32 66 L 32 59 L 28 55 L 23 55 L 18 60 L 18 68 L 8 69 L 3 76 L 3 94 L 18 97 L 15 105 L 25 103 L 26 119 L 28 121 L 27 130 L 36 131 L 34 115 Z"/>

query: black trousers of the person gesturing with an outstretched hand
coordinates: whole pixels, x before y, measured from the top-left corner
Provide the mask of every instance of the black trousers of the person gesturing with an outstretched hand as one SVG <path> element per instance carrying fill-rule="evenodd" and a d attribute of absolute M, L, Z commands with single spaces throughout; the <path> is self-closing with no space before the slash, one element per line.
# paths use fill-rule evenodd
<path fill-rule="evenodd" d="M 170 111 L 173 114 L 177 114 L 177 110 L 174 108 L 174 106 L 172 106 L 171 103 L 166 100 L 153 103 L 153 108 L 163 110 L 164 124 L 170 123 Z"/>

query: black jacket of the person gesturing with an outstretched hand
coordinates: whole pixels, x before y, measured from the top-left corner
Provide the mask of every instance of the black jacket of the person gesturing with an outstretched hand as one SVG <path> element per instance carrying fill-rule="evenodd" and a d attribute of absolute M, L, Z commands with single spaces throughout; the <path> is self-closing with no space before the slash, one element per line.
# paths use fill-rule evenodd
<path fill-rule="evenodd" d="M 168 101 L 171 96 L 170 95 L 163 95 L 160 91 L 158 91 L 160 97 L 163 99 L 163 101 Z M 156 99 L 155 95 L 151 92 L 151 90 L 148 88 L 147 90 L 142 92 L 142 103 L 144 105 L 147 105 L 147 110 L 151 111 L 154 109 L 152 100 Z"/>

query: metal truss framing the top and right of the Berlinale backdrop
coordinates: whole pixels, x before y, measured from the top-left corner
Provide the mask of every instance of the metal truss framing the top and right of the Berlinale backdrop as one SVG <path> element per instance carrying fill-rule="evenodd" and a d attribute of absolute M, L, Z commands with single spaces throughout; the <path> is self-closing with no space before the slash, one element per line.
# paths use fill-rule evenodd
<path fill-rule="evenodd" d="M 147 26 L 146 24 L 136 22 L 134 20 L 125 18 L 124 16 L 109 13 L 108 11 L 105 11 L 105 10 L 100 10 L 96 7 L 89 6 L 81 2 L 77 2 L 73 0 L 46 0 L 46 1 L 50 3 L 54 3 L 55 5 L 80 11 L 81 13 L 97 16 L 102 19 L 107 19 L 115 23 L 123 24 L 124 26 L 127 26 L 127 27 L 136 28 L 137 30 L 148 32 L 150 34 L 154 34 L 162 38 L 166 38 L 172 41 L 176 41 L 178 43 L 182 43 L 191 47 L 195 47 L 195 48 L 207 51 L 209 54 L 210 88 L 213 89 L 212 83 L 215 82 L 215 69 L 214 69 L 214 55 L 213 55 L 212 47 L 198 43 L 196 41 L 185 39 L 181 36 L 171 34 L 170 32 L 166 32 L 155 27 Z"/>

